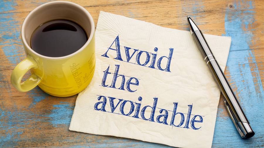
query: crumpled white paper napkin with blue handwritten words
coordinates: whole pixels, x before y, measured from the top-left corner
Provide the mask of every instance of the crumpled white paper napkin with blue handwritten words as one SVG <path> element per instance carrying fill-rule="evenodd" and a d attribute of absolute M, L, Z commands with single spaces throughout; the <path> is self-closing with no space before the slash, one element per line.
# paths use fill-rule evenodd
<path fill-rule="evenodd" d="M 189 31 L 101 11 L 95 35 L 94 77 L 70 130 L 211 147 L 220 90 Z M 224 70 L 231 38 L 204 36 Z"/>

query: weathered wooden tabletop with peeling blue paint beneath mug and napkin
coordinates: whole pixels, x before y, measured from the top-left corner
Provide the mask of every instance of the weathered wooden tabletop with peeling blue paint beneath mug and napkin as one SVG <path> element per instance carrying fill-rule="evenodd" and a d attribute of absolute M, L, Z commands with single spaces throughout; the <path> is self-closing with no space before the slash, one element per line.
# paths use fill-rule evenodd
<path fill-rule="evenodd" d="M 0 147 L 167 147 L 111 136 L 69 131 L 77 95 L 53 97 L 39 87 L 18 92 L 10 83 L 13 68 L 25 58 L 20 28 L 33 8 L 47 2 L 0 1 Z M 191 16 L 204 33 L 232 37 L 225 74 L 250 121 L 255 136 L 236 131 L 221 96 L 212 147 L 263 147 L 263 0 L 77 0 L 97 23 L 99 11 L 189 30 Z M 28 76 L 28 75 L 27 75 Z"/>

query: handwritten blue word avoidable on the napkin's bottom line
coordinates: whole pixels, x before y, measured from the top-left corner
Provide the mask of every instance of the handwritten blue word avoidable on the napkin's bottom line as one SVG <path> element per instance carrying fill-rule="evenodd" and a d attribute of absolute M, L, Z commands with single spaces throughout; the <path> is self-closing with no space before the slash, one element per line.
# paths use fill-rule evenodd
<path fill-rule="evenodd" d="M 189 128 L 189 123 L 190 123 L 191 128 L 194 130 L 198 130 L 201 128 L 201 127 L 199 127 L 199 128 L 195 127 L 194 123 L 202 123 L 203 122 L 202 116 L 191 114 L 192 105 L 188 105 L 189 110 L 188 110 L 188 113 L 186 115 L 186 120 L 185 120 L 184 113 L 176 112 L 178 103 L 173 103 L 174 107 L 173 107 L 173 111 L 172 111 L 172 115 L 171 115 L 171 120 L 170 120 L 170 124 L 168 124 L 167 119 L 169 116 L 169 113 L 168 113 L 169 110 L 160 109 L 159 113 L 164 112 L 164 114 L 158 115 L 154 119 L 155 111 L 156 111 L 156 109 L 159 109 L 159 108 L 157 108 L 158 98 L 153 98 L 154 99 L 153 106 L 147 105 L 147 106 L 144 106 L 142 109 L 141 109 L 141 103 L 136 103 L 136 102 L 123 100 L 123 99 L 117 99 L 114 97 L 108 97 L 108 98 L 109 98 L 109 105 L 110 105 L 111 111 L 106 111 L 107 98 L 105 96 L 99 96 L 97 98 L 100 102 L 97 102 L 94 104 L 94 109 L 97 111 L 116 113 L 116 114 L 120 114 L 120 115 L 124 115 L 124 116 L 139 118 L 139 119 L 157 122 L 157 123 L 161 123 L 161 124 L 165 124 L 165 125 L 171 125 L 174 127 Z M 138 101 L 142 101 L 142 97 L 138 97 Z M 120 106 L 120 107 L 119 107 L 119 109 L 116 110 L 117 106 Z M 124 109 L 124 108 L 126 108 L 126 109 Z M 149 113 L 149 111 L 146 111 L 148 109 L 151 109 L 151 113 L 149 115 L 146 115 L 146 113 Z M 139 114 L 141 115 L 141 117 L 139 116 Z M 180 116 L 179 121 L 175 120 L 176 115 Z M 193 116 L 192 119 L 190 119 L 191 115 Z M 146 116 L 148 116 L 148 117 L 146 117 Z M 184 125 L 184 123 L 185 123 L 185 125 Z"/>

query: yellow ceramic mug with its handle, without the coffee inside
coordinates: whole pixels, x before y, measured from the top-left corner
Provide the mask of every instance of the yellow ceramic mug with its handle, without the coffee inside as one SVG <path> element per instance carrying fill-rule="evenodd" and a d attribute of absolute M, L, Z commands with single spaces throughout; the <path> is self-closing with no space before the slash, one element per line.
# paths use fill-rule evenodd
<path fill-rule="evenodd" d="M 87 33 L 87 42 L 74 53 L 62 57 L 48 57 L 33 51 L 31 35 L 41 24 L 50 20 L 71 20 Z M 25 18 L 21 39 L 26 58 L 18 63 L 11 74 L 12 85 L 20 92 L 27 92 L 37 85 L 46 93 L 68 97 L 84 90 L 92 80 L 95 68 L 95 27 L 90 13 L 78 4 L 53 1 L 38 6 Z M 27 71 L 31 76 L 21 82 Z"/>

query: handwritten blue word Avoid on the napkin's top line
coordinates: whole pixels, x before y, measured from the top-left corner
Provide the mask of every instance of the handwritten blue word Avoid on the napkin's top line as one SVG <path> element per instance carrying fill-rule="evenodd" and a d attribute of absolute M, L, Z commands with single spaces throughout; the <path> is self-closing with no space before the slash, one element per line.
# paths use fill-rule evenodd
<path fill-rule="evenodd" d="M 124 61 L 123 58 L 121 57 L 119 36 L 116 37 L 114 42 L 107 49 L 106 53 L 104 53 L 101 56 L 109 58 L 107 53 L 110 52 L 110 50 L 112 52 L 113 51 L 116 52 L 116 57 L 114 59 Z M 124 47 L 124 51 L 125 51 L 125 55 L 126 55 L 126 61 L 125 62 L 170 72 L 170 62 L 172 59 L 173 48 L 170 48 L 170 52 L 169 52 L 168 56 L 161 56 L 158 59 L 157 59 L 157 54 L 149 53 L 147 51 L 132 49 L 130 47 Z M 154 51 L 158 52 L 158 48 L 155 47 Z M 136 56 L 136 59 L 135 59 L 135 62 L 134 61 L 132 62 L 131 58 L 133 58 L 134 56 Z M 143 58 L 143 59 L 141 59 L 141 58 Z M 150 61 L 150 58 L 151 58 L 151 61 Z"/>

